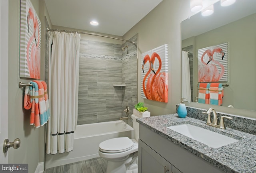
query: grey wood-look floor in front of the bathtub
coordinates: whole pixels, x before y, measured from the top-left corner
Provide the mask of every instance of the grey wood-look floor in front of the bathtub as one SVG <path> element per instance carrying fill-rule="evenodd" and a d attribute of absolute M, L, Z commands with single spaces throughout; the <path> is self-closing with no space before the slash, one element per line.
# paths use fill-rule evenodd
<path fill-rule="evenodd" d="M 106 173 L 108 162 L 101 157 L 45 169 L 44 173 Z"/>

